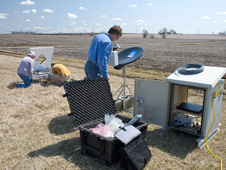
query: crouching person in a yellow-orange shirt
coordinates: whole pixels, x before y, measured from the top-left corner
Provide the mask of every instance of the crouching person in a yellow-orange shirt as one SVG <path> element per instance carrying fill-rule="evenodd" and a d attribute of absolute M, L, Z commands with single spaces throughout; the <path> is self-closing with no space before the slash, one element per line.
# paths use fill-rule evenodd
<path fill-rule="evenodd" d="M 65 81 L 70 80 L 71 73 L 63 64 L 52 63 L 52 74 L 50 78 L 56 85 L 62 85 Z"/>

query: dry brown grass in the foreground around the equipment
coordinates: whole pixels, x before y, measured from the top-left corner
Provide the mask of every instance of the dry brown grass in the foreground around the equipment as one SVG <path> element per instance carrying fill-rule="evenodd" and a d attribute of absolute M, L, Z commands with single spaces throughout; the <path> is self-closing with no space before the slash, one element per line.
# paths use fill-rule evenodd
<path fill-rule="evenodd" d="M 80 153 L 79 130 L 67 116 L 70 111 L 66 98 L 62 97 L 65 93 L 63 87 L 44 87 L 36 83 L 27 89 L 7 88 L 10 83 L 20 81 L 16 74 L 20 60 L 0 56 L 0 169 L 120 169 L 119 164 L 102 166 L 96 158 Z M 70 61 L 71 64 L 77 62 Z M 73 64 L 68 66 L 72 78 L 83 79 L 82 66 L 78 68 Z M 128 68 L 128 74 L 129 69 L 132 68 Z M 135 74 L 134 71 L 132 74 Z M 160 80 L 163 80 L 168 73 L 161 74 Z M 110 84 L 114 94 L 122 85 L 122 78 L 111 75 Z M 133 91 L 134 78 L 127 78 L 127 84 Z M 221 123 L 221 131 L 210 140 L 209 147 L 225 163 L 225 98 Z M 147 144 L 153 156 L 145 169 L 219 169 L 219 160 L 205 147 L 198 149 L 194 136 L 174 130 L 161 136 L 160 128 L 148 126 Z"/>

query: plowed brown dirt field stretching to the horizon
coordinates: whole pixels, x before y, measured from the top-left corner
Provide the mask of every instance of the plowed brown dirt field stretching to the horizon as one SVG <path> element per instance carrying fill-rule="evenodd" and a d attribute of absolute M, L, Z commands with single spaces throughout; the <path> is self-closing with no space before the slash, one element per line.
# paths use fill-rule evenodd
<path fill-rule="evenodd" d="M 27 53 L 30 47 L 54 46 L 54 56 L 86 60 L 94 35 L 0 35 L 0 50 Z M 160 35 L 143 38 L 142 34 L 123 34 L 116 42 L 119 52 L 142 47 L 144 55 L 132 63 L 135 67 L 174 71 L 186 63 L 226 67 L 226 36 L 223 35 Z"/>

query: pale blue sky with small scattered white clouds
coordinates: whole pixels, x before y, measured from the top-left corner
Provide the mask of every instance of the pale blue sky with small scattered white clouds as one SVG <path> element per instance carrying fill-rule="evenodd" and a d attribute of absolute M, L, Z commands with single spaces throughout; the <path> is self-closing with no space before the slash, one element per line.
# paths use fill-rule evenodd
<path fill-rule="evenodd" d="M 226 31 L 226 0 L 1 0 L 0 34 L 107 32 L 183 34 Z"/>

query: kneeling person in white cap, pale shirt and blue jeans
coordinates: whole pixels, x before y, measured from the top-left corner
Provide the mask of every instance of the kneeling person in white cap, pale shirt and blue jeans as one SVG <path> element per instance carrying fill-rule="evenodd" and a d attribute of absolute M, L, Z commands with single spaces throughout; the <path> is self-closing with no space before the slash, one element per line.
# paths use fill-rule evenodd
<path fill-rule="evenodd" d="M 31 85 L 34 71 L 35 52 L 29 51 L 28 55 L 21 60 L 17 69 L 17 74 L 23 80 L 24 84 L 16 84 L 17 88 L 26 88 Z"/>

